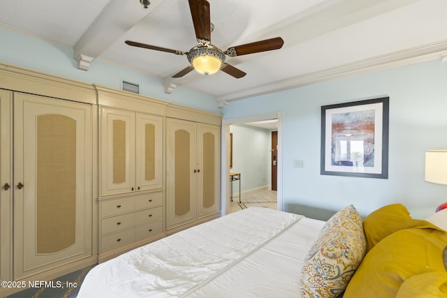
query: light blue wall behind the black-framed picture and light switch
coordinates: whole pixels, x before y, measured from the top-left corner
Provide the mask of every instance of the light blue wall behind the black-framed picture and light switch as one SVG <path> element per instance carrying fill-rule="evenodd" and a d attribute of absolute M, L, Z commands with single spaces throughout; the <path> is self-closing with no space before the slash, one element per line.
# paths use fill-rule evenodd
<path fill-rule="evenodd" d="M 321 106 L 390 97 L 389 178 L 320 174 Z M 296 204 L 338 210 L 354 204 L 365 216 L 403 203 L 415 218 L 447 201 L 447 186 L 424 181 L 427 149 L 447 149 L 447 63 L 426 62 L 237 100 L 224 119 L 284 112 L 284 210 Z M 293 160 L 305 161 L 294 168 Z"/>

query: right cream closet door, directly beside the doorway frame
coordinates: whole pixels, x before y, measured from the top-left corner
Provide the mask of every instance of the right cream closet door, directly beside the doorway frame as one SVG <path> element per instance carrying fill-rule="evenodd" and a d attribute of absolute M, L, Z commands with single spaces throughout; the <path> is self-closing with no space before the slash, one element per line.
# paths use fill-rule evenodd
<path fill-rule="evenodd" d="M 219 212 L 219 126 L 197 124 L 198 218 Z"/>

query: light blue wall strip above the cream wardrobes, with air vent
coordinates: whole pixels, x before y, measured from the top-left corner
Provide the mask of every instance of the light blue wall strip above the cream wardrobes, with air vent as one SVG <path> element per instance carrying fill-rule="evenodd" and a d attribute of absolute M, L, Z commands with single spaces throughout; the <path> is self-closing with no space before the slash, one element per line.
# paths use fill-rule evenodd
<path fill-rule="evenodd" d="M 160 78 L 95 59 L 87 71 L 79 70 L 73 59 L 73 50 L 58 47 L 43 40 L 24 36 L 0 27 L 0 61 L 31 68 L 80 82 L 101 84 L 121 89 L 122 80 L 140 84 L 140 94 L 166 100 L 170 103 L 194 107 L 221 114 L 212 96 L 177 87 L 172 94 L 164 93 Z"/>

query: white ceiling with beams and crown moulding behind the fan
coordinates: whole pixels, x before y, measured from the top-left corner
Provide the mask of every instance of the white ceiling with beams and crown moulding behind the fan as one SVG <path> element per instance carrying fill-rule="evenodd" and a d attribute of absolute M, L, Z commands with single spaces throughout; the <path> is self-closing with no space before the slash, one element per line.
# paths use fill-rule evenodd
<path fill-rule="evenodd" d="M 447 60 L 446 0 L 208 0 L 212 44 L 221 50 L 281 36 L 281 50 L 227 57 L 247 73 L 170 76 L 186 56 L 124 44 L 133 40 L 187 52 L 197 45 L 186 0 L 1 1 L 0 26 L 73 49 L 91 59 L 159 77 L 217 98 L 221 105 L 256 94 L 367 71 Z M 93 62 L 94 63 L 94 62 Z M 162 84 L 162 83 L 161 83 Z M 169 88 L 168 88 L 169 87 Z"/>

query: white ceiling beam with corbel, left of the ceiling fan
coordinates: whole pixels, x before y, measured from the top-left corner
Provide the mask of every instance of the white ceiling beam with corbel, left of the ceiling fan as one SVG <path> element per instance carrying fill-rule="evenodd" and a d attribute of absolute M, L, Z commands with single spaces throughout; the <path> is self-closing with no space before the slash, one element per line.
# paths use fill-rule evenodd
<path fill-rule="evenodd" d="M 138 0 L 110 0 L 73 47 L 78 68 L 88 70 L 91 61 L 99 57 L 162 1 L 165 0 L 152 0 L 150 6 L 145 9 Z"/>

